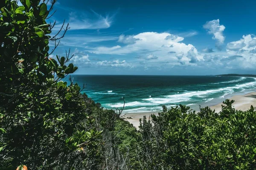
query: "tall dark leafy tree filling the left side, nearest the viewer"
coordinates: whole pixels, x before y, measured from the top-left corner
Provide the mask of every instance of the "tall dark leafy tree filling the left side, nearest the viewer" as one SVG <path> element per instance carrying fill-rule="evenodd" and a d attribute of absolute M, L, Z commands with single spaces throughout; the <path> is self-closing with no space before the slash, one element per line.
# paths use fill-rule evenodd
<path fill-rule="evenodd" d="M 90 109 L 80 87 L 61 81 L 77 69 L 67 65 L 72 56 L 49 58 L 49 41 L 56 47 L 63 28 L 49 36 L 55 23 L 46 19 L 56 0 L 49 10 L 44 1 L 20 2 L 22 6 L 15 0 L 0 2 L 0 165 L 26 164 L 34 170 L 61 163 L 72 167 L 74 162 L 66 155 L 78 148 L 85 157 L 97 158 L 102 132 L 87 122 Z M 68 25 L 64 34 L 67 29 Z M 92 160 L 83 163 L 93 167 Z"/>

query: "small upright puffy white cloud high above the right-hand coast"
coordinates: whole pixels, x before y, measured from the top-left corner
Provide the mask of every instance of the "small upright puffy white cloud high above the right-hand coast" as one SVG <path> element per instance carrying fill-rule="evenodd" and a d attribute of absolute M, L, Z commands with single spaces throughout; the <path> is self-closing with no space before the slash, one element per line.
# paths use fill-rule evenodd
<path fill-rule="evenodd" d="M 224 43 L 225 37 L 223 31 L 225 30 L 224 25 L 220 25 L 220 20 L 211 20 L 203 26 L 209 34 L 212 34 L 212 39 L 216 40 L 216 48 L 221 49 L 221 45 Z"/>

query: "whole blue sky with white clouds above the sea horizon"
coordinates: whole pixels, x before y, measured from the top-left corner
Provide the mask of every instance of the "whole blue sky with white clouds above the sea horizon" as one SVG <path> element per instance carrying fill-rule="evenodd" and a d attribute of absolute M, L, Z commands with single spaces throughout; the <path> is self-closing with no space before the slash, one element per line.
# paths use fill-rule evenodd
<path fill-rule="evenodd" d="M 76 74 L 256 74 L 255 0 L 58 0 Z M 50 43 L 51 48 L 53 43 Z"/>

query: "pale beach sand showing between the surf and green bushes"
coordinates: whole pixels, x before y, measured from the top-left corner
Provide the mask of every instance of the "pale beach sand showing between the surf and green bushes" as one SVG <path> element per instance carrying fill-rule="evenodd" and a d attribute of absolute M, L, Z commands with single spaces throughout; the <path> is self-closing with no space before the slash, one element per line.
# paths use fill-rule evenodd
<path fill-rule="evenodd" d="M 244 95 L 236 95 L 232 96 L 229 98 L 230 100 L 235 100 L 233 103 L 233 106 L 236 110 L 241 110 L 241 111 L 247 111 L 250 109 L 250 106 L 253 105 L 256 107 L 256 92 L 252 92 L 249 94 L 244 94 Z M 212 110 L 215 109 L 216 112 L 221 111 L 221 105 L 223 103 L 219 103 L 218 105 L 213 105 L 209 106 Z M 141 113 L 122 113 L 122 117 L 125 118 L 128 122 L 134 125 L 137 129 L 139 129 L 140 125 L 140 118 L 143 118 L 143 116 L 146 116 L 147 119 L 151 114 L 156 114 L 158 115 L 158 112 L 141 112 Z M 131 117 L 132 119 L 128 119 L 128 117 Z"/>

